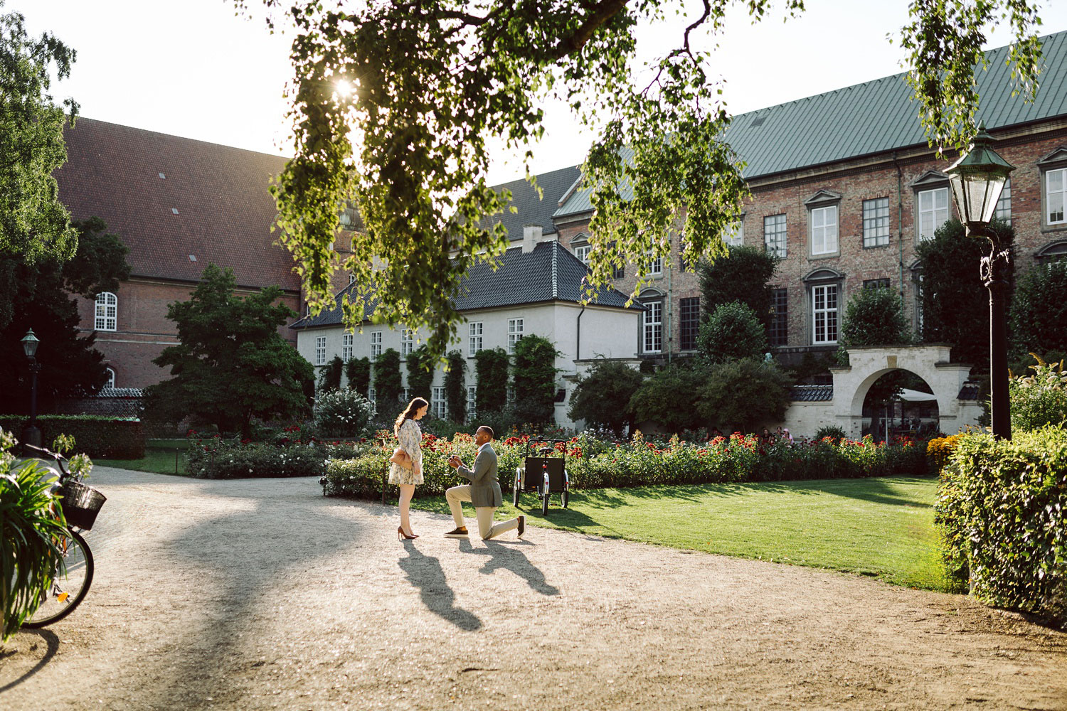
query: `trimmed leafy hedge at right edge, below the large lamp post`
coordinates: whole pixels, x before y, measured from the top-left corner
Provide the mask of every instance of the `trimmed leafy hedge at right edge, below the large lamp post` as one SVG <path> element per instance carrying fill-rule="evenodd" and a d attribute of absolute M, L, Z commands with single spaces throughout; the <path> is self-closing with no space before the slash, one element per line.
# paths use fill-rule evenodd
<path fill-rule="evenodd" d="M 935 511 L 957 591 L 1067 623 L 1067 432 L 965 435 Z"/>

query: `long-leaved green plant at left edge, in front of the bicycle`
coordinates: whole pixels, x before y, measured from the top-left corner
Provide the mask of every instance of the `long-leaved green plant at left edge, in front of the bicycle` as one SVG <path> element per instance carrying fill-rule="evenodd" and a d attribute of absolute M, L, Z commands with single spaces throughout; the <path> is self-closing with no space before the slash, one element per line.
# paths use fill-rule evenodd
<path fill-rule="evenodd" d="M 42 478 L 45 468 L 30 460 L 12 471 L 15 457 L 9 450 L 15 437 L 0 430 L 0 603 L 7 641 L 39 604 L 51 587 L 57 565 L 63 560 L 58 536 L 66 521 L 52 513 L 54 478 Z"/>

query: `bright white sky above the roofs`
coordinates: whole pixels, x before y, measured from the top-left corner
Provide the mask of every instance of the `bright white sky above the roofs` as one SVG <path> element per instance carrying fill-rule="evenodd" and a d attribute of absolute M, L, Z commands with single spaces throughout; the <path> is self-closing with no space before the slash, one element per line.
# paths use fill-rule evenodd
<path fill-rule="evenodd" d="M 255 7 L 256 0 L 249 4 Z M 780 5 L 781 3 L 779 3 Z M 799 99 L 901 71 L 904 54 L 890 45 L 908 20 L 908 0 L 808 0 L 798 19 L 780 12 L 751 25 L 743 9 L 719 37 L 715 70 L 727 81 L 731 113 Z M 1042 34 L 1067 30 L 1067 3 L 1042 2 Z M 229 0 L 7 0 L 31 34 L 50 31 L 78 52 L 73 76 L 53 84 L 73 96 L 81 115 L 275 155 L 291 155 L 282 96 L 291 68 L 290 37 L 271 35 L 261 19 L 235 16 Z M 671 49 L 681 32 L 646 28 L 643 55 Z M 998 29 L 989 47 L 1007 44 Z M 703 46 L 711 41 L 704 35 Z M 545 139 L 534 147 L 534 172 L 580 163 L 591 136 L 568 109 L 546 107 Z M 522 177 L 503 150 L 490 179 Z"/>

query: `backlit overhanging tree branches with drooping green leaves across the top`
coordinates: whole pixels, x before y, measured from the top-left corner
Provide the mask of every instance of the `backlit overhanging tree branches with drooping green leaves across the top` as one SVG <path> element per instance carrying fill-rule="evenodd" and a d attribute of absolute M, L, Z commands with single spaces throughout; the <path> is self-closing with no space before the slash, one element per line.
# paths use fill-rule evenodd
<path fill-rule="evenodd" d="M 650 253 L 669 260 L 672 232 L 684 238 L 690 263 L 721 253 L 719 236 L 747 192 L 721 139 L 729 114 L 711 53 L 698 49 L 694 32 L 721 30 L 729 0 L 703 0 L 678 46 L 647 71 L 634 30 L 665 22 L 680 2 L 264 2 L 285 9 L 297 32 L 296 156 L 274 195 L 281 240 L 313 309 L 332 304 L 330 277 L 339 266 L 355 275 L 347 325 L 363 320 L 373 294 L 377 320 L 428 326 L 430 351 L 444 353 L 460 321 L 451 296 L 463 274 L 506 246 L 503 228 L 483 220 L 510 199 L 487 183 L 487 140 L 521 147 L 540 138 L 538 102 L 546 97 L 566 100 L 599 131 L 583 166 L 595 210 L 591 285 L 605 284 L 622 260 L 647 264 Z M 745 4 L 757 19 L 770 7 Z M 802 0 L 783 5 L 787 15 L 803 9 Z M 910 12 L 902 45 L 931 145 L 960 148 L 974 133 L 973 69 L 989 25 L 1010 22 L 1015 76 L 1023 94 L 1036 88 L 1039 20 L 1031 2 L 914 0 Z M 330 245 L 347 203 L 365 229 L 338 265 Z"/>

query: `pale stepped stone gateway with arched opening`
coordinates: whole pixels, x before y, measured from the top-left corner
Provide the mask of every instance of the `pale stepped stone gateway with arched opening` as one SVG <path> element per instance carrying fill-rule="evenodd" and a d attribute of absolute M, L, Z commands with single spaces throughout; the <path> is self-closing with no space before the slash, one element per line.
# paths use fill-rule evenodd
<path fill-rule="evenodd" d="M 955 434 L 975 426 L 982 405 L 975 399 L 977 388 L 968 384 L 971 367 L 949 362 L 952 346 L 923 344 L 892 348 L 849 349 L 849 365 L 831 368 L 833 386 L 794 388 L 794 402 L 785 414 L 784 425 L 794 435 L 811 436 L 826 424 L 835 424 L 850 437 L 860 437 L 863 427 L 863 400 L 875 381 L 894 370 L 911 371 L 926 381 L 937 398 L 941 432 Z M 831 394 L 832 393 L 832 394 Z"/>

